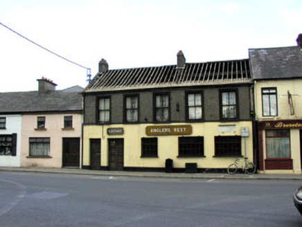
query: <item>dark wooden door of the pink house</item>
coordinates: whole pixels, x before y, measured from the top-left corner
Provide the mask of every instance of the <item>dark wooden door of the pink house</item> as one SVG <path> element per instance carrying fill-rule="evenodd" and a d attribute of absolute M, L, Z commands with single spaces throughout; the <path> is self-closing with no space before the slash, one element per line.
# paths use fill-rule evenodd
<path fill-rule="evenodd" d="M 80 138 L 63 138 L 63 167 L 80 167 Z"/>

